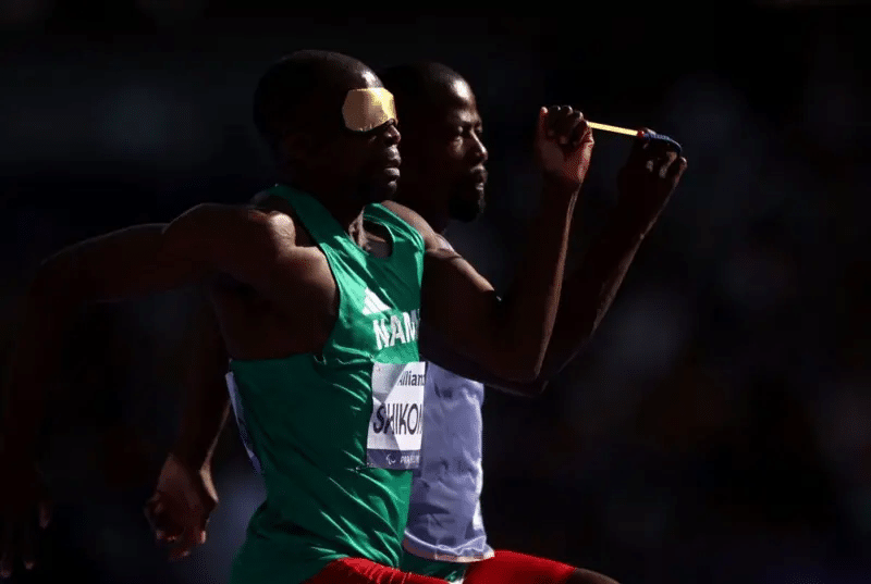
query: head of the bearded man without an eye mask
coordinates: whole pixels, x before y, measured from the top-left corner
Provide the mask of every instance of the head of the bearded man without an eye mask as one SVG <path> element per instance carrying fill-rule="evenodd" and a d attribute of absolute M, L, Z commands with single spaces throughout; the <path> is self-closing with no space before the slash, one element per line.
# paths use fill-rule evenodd
<path fill-rule="evenodd" d="M 403 198 L 425 216 L 477 218 L 484 207 L 487 149 L 469 84 L 432 62 L 397 65 L 380 77 L 395 96 L 403 131 Z"/>

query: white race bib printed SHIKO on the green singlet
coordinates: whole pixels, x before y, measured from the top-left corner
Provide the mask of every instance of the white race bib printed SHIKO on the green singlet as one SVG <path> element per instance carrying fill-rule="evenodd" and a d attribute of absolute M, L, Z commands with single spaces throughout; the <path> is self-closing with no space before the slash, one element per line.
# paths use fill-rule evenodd
<path fill-rule="evenodd" d="M 366 463 L 379 469 L 416 469 L 424 437 L 426 362 L 375 363 L 372 417 Z"/>

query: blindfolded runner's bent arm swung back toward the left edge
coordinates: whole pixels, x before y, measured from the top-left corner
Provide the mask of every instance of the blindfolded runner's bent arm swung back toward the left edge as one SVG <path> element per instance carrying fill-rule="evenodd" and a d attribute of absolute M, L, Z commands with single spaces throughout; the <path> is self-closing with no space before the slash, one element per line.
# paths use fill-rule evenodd
<path fill-rule="evenodd" d="M 24 302 L 3 392 L 0 575 L 11 573 L 16 557 L 33 562 L 30 532 L 37 519 L 42 525 L 48 521 L 36 444 L 45 389 L 73 314 L 88 302 L 169 290 L 214 272 L 255 286 L 270 282 L 271 274 L 261 268 L 270 262 L 250 258 L 274 257 L 275 231 L 269 218 L 255 215 L 245 208 L 199 206 L 169 225 L 140 225 L 88 239 L 42 263 Z"/>

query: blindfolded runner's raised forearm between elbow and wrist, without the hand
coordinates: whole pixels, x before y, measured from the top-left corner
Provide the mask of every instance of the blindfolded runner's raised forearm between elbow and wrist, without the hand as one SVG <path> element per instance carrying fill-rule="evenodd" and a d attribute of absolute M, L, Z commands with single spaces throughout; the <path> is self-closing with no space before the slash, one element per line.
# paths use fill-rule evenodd
<path fill-rule="evenodd" d="M 503 361 L 511 364 L 517 382 L 538 376 L 553 324 L 563 284 L 577 190 L 545 183 L 539 211 L 529 231 L 529 243 L 515 274 L 513 286 L 498 312 L 493 343 Z"/>

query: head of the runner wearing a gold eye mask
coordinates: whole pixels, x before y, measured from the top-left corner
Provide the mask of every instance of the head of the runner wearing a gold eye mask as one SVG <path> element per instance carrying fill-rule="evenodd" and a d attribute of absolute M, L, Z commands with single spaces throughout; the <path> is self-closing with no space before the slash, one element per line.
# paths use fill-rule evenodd
<path fill-rule="evenodd" d="M 280 169 L 300 188 L 318 196 L 353 194 L 361 202 L 389 199 L 398 178 L 400 133 L 394 120 L 377 114 L 392 110 L 392 98 L 382 92 L 379 103 L 377 94 L 353 91 L 380 87 L 376 74 L 356 59 L 298 51 L 260 78 L 254 122 Z M 379 125 L 359 129 L 360 115 L 365 121 L 367 114 Z"/>

